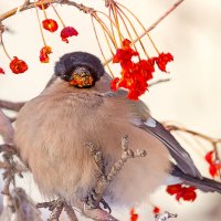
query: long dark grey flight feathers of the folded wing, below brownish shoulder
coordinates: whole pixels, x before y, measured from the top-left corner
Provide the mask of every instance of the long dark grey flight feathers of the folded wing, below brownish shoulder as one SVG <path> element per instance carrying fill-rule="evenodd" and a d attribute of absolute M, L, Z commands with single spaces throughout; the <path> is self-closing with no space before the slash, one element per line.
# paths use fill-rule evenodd
<path fill-rule="evenodd" d="M 154 135 L 157 139 L 166 145 L 170 155 L 177 162 L 177 167 L 186 175 L 202 179 L 202 176 L 196 168 L 190 155 L 180 146 L 180 144 L 175 139 L 175 137 L 156 119 L 154 120 L 154 126 L 143 122 L 141 128 Z"/>

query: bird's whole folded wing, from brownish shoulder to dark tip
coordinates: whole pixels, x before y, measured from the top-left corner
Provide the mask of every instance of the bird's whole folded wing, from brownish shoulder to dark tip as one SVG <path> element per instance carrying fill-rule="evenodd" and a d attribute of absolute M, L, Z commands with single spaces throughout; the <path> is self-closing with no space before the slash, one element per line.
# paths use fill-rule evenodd
<path fill-rule="evenodd" d="M 110 97 L 125 97 L 127 92 L 117 91 L 117 93 L 108 92 L 106 96 Z M 141 101 L 127 99 L 127 104 L 130 105 L 131 110 L 139 117 L 138 123 L 135 126 L 150 133 L 157 139 L 165 144 L 168 148 L 171 157 L 177 162 L 177 167 L 186 175 L 201 179 L 201 175 L 196 168 L 190 155 L 181 147 L 176 138 L 156 119 L 150 116 L 148 107 Z"/>

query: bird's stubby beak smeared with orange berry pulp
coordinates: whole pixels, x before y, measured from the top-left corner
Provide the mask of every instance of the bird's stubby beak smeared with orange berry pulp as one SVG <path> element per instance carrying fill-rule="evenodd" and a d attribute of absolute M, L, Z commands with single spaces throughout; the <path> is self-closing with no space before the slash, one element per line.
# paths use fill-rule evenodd
<path fill-rule="evenodd" d="M 83 67 L 76 69 L 72 74 L 70 85 L 81 88 L 91 87 L 94 85 L 94 78 L 87 70 L 84 70 Z"/>

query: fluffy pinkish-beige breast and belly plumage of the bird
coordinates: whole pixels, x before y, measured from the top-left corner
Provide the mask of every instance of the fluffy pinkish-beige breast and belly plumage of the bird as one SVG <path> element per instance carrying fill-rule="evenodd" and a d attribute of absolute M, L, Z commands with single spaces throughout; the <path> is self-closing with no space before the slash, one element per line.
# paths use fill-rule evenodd
<path fill-rule="evenodd" d="M 97 168 L 85 144 L 103 151 L 108 169 L 120 157 L 122 137 L 128 135 L 129 147 L 146 149 L 148 156 L 125 165 L 108 197 L 133 203 L 164 182 L 168 151 L 133 126 L 137 116 L 125 96 L 103 97 L 98 87 L 80 91 L 57 78 L 19 113 L 15 143 L 44 194 L 75 200 L 85 198 L 96 182 Z"/>

